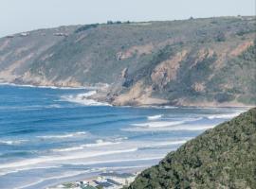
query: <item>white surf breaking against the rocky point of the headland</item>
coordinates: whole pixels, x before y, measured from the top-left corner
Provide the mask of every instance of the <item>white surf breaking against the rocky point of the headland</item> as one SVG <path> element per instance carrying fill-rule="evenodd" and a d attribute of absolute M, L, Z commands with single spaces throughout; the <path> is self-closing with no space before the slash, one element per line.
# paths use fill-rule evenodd
<path fill-rule="evenodd" d="M 84 94 L 70 94 L 70 95 L 63 95 L 62 99 L 68 101 L 68 102 L 73 102 L 77 104 L 82 104 L 85 106 L 111 106 L 110 104 L 106 102 L 98 102 L 94 99 L 89 99 L 93 94 L 96 94 L 96 91 L 89 91 Z"/>

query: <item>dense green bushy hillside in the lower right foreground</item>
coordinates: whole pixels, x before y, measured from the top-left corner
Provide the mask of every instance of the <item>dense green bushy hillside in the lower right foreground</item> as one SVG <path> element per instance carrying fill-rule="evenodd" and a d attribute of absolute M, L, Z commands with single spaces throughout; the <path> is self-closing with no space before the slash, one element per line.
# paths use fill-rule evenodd
<path fill-rule="evenodd" d="M 129 189 L 255 188 L 256 108 L 168 154 Z"/>

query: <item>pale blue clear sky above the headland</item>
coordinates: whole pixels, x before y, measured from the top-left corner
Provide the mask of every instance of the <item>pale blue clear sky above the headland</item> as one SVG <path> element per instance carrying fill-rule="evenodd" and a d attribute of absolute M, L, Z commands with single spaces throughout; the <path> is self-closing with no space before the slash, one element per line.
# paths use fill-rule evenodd
<path fill-rule="evenodd" d="M 255 15 L 255 0 L 0 0 L 0 37 L 112 21 Z"/>

